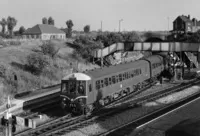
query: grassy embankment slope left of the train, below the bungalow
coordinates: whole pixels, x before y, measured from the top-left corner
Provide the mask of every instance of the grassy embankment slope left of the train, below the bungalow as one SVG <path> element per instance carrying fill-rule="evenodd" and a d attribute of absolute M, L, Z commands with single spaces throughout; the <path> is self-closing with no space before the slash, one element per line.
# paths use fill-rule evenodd
<path fill-rule="evenodd" d="M 42 41 L 0 42 L 3 45 L 3 48 L 0 48 L 0 105 L 8 95 L 13 97 L 16 93 L 60 83 L 61 78 L 71 71 L 70 63 L 77 69 L 77 60 L 72 55 L 73 49 L 68 47 L 65 41 L 56 40 L 51 43 L 59 49 L 53 58 L 42 53 Z M 27 56 L 33 53 L 48 58 L 48 65 L 37 74 L 27 67 Z M 79 71 L 96 67 L 83 61 L 78 64 Z"/>

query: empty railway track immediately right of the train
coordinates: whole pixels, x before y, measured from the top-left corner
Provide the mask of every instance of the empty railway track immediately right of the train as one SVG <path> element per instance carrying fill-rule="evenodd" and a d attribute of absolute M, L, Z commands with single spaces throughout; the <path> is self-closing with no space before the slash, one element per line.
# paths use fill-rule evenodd
<path fill-rule="evenodd" d="M 61 135 L 61 134 L 69 133 L 70 131 L 76 130 L 77 128 L 87 126 L 87 125 L 95 122 L 96 120 L 105 120 L 105 118 L 109 118 L 117 113 L 121 113 L 121 112 L 124 112 L 125 110 L 132 109 L 135 106 L 138 106 L 144 102 L 147 102 L 147 101 L 150 101 L 153 99 L 158 99 L 165 95 L 169 95 L 171 93 L 181 91 L 192 85 L 200 83 L 200 81 L 198 81 L 198 80 L 199 80 L 199 78 L 192 80 L 189 83 L 184 83 L 184 84 L 180 84 L 179 86 L 175 86 L 173 88 L 168 88 L 161 92 L 156 92 L 156 93 L 152 93 L 150 95 L 143 96 L 143 97 L 140 97 L 137 99 L 128 100 L 121 104 L 115 105 L 115 107 L 117 107 L 117 108 L 113 108 L 112 110 L 110 110 L 108 108 L 108 109 L 103 109 L 99 112 L 96 112 L 93 115 L 79 116 L 77 118 L 71 118 L 70 122 L 68 120 L 62 121 L 62 122 L 60 121 L 59 125 L 50 124 L 50 126 L 46 126 L 48 124 L 45 124 L 44 128 L 40 127 L 40 132 L 42 132 L 42 133 L 33 132 L 31 134 L 32 135 L 35 134 L 35 135 L 39 135 L 39 136 L 43 136 L 43 135 L 50 136 L 50 135 Z M 102 135 L 104 135 L 104 134 L 102 134 Z"/>

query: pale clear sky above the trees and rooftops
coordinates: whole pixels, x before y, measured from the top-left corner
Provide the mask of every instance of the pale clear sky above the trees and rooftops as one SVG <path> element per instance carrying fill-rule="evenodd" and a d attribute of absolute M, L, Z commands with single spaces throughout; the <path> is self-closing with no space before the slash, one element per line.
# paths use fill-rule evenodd
<path fill-rule="evenodd" d="M 43 17 L 53 17 L 55 26 L 66 28 L 71 19 L 73 30 L 103 31 L 165 31 L 172 29 L 179 15 L 200 19 L 199 0 L 0 0 L 0 20 L 8 16 L 25 28 L 42 23 Z"/>

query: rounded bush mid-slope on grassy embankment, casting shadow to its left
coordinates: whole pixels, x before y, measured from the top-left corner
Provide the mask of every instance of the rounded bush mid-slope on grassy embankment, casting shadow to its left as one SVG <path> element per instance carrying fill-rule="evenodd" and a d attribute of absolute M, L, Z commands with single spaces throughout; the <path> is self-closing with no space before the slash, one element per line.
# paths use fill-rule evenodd
<path fill-rule="evenodd" d="M 27 56 L 26 68 L 33 74 L 40 74 L 43 69 L 49 64 L 47 56 L 42 54 L 32 53 Z"/>

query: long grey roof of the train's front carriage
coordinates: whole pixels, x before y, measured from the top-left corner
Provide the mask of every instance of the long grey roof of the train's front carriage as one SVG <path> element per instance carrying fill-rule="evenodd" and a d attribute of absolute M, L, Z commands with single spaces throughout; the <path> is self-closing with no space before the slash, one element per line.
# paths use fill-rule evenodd
<path fill-rule="evenodd" d="M 125 70 L 132 69 L 132 68 L 139 68 L 139 67 L 142 67 L 143 65 L 145 65 L 145 63 L 148 63 L 148 62 L 146 60 L 137 60 L 134 62 L 121 63 L 118 65 L 113 65 L 113 66 L 109 66 L 109 67 L 103 67 L 103 68 L 98 68 L 98 69 L 94 69 L 94 70 L 89 70 L 89 71 L 85 71 L 84 73 L 93 78 L 99 78 L 99 77 L 103 77 L 106 75 L 112 75 L 112 74 L 118 73 L 120 71 L 125 71 Z"/>

